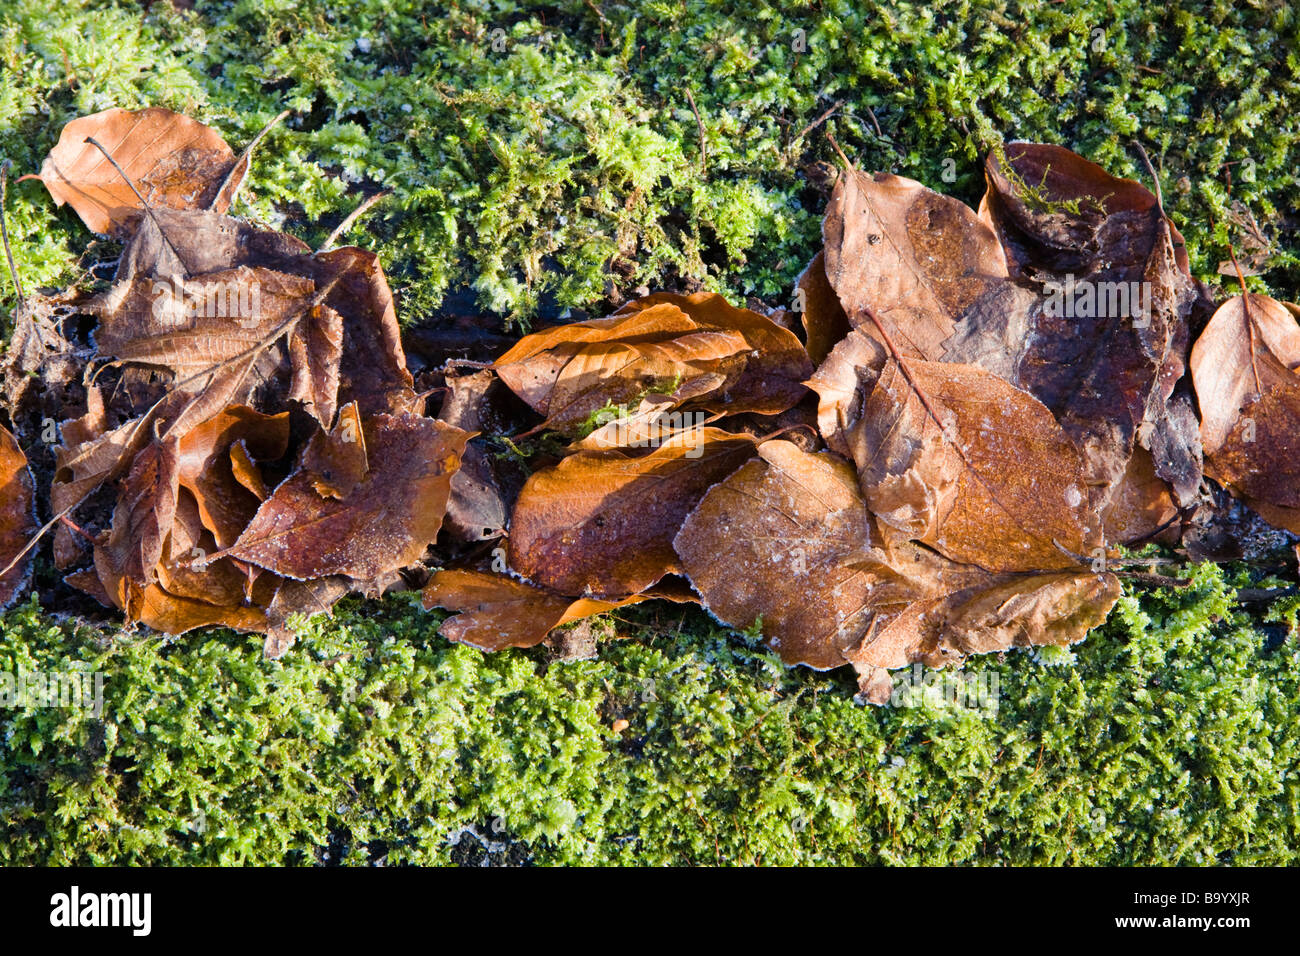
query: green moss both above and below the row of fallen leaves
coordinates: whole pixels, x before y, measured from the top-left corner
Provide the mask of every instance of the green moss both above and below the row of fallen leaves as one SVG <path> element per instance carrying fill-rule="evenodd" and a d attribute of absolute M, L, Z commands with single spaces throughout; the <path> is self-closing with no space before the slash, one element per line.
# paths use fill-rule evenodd
<path fill-rule="evenodd" d="M 1253 222 L 1248 282 L 1296 299 L 1297 39 L 1265 0 L 10 0 L 0 156 L 34 170 L 68 120 L 144 104 L 238 150 L 291 108 L 240 212 L 315 245 L 391 190 L 347 239 L 403 324 L 456 302 L 520 328 L 642 285 L 786 299 L 826 130 L 967 200 L 1001 139 L 1149 178 L 1139 142 L 1193 271 Z M 29 286 L 96 255 L 39 183 L 8 213 Z M 1294 609 L 1240 604 L 1244 568 L 1187 574 L 1072 652 L 974 661 L 996 713 L 864 708 L 848 675 L 670 606 L 562 663 L 450 645 L 408 597 L 348 602 L 265 662 L 229 632 L 29 602 L 0 619 L 0 672 L 99 670 L 104 711 L 0 710 L 0 862 L 1292 862 Z"/>

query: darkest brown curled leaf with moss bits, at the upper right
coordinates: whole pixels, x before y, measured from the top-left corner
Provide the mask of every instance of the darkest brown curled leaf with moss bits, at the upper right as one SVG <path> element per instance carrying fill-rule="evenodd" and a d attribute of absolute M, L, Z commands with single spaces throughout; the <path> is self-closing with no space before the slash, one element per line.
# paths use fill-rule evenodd
<path fill-rule="evenodd" d="M 1190 505 L 1201 447 L 1184 371 L 1190 324 L 1210 302 L 1191 277 L 1183 237 L 1144 186 L 1062 147 L 1010 143 L 1005 163 L 991 155 L 985 170 L 980 219 L 1006 250 L 1011 277 L 1054 282 L 1066 306 L 1035 316 L 1032 355 L 1015 384 L 1052 408 L 1095 481 L 1114 486 L 1140 442 Z"/>

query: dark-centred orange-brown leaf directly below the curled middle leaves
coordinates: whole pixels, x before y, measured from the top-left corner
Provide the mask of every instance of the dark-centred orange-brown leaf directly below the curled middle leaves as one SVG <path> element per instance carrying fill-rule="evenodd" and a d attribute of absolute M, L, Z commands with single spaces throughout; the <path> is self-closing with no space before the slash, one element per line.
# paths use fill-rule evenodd
<path fill-rule="evenodd" d="M 618 597 L 677 571 L 681 520 L 754 453 L 716 428 L 679 432 L 649 454 L 580 451 L 534 473 L 510 525 L 510 564 L 563 594 Z"/>

